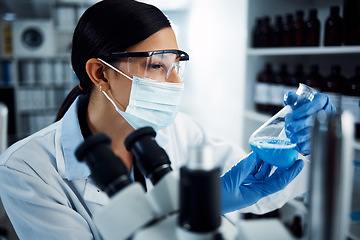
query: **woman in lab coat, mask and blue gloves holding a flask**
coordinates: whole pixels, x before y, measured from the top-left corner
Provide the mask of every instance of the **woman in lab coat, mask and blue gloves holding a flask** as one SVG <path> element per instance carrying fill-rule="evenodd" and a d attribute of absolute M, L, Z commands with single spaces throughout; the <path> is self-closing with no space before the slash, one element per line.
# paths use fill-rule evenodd
<path fill-rule="evenodd" d="M 188 146 L 210 144 L 223 172 L 228 170 L 221 177 L 224 213 L 249 206 L 256 213 L 271 211 L 303 193 L 286 187 L 301 172 L 302 160 L 269 176 L 271 166 L 255 154 L 239 161 L 244 154 L 237 146 L 207 136 L 200 124 L 177 114 L 188 59 L 169 20 L 154 6 L 104 0 L 86 10 L 72 45 L 78 86 L 54 124 L 14 144 L 0 159 L 1 199 L 20 239 L 101 239 L 91 213 L 108 198 L 74 155 L 85 138 L 99 132 L 111 138 L 114 153 L 135 176 L 133 156 L 124 146 L 134 129 L 157 131 L 173 169 L 188 159 Z M 319 96 L 306 109 L 331 109 L 328 98 Z M 299 120 L 294 112 L 289 134 L 306 145 L 309 126 L 301 121 L 311 114 L 302 114 Z"/>

